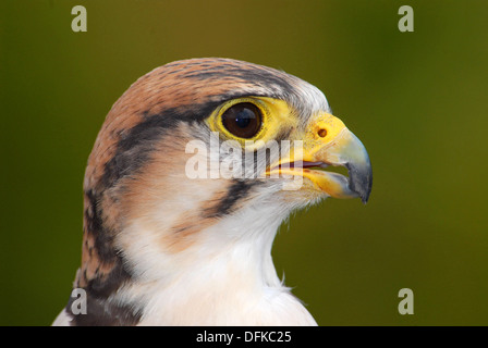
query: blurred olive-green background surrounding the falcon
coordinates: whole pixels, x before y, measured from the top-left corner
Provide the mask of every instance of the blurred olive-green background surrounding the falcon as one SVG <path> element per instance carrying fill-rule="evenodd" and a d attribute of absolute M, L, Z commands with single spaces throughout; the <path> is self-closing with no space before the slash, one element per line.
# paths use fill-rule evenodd
<path fill-rule="evenodd" d="M 73 33 L 71 9 L 87 9 Z M 400 5 L 414 33 L 400 33 Z M 112 103 L 173 60 L 228 57 L 324 90 L 374 164 L 276 240 L 320 325 L 488 324 L 485 1 L 0 2 L 0 324 L 49 325 L 80 264 L 82 183 Z M 411 288 L 415 314 L 400 315 Z"/>

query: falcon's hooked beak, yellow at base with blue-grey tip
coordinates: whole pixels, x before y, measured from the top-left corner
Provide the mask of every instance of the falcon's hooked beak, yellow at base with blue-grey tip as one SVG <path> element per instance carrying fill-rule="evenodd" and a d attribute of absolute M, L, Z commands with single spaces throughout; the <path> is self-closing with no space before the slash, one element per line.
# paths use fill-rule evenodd
<path fill-rule="evenodd" d="M 290 159 L 271 166 L 268 173 L 302 175 L 331 197 L 359 197 L 364 203 L 367 202 L 373 184 L 368 153 L 361 140 L 338 117 L 328 113 L 313 117 L 303 139 L 303 153 L 297 153 L 295 149 Z M 349 178 L 327 172 L 330 165 L 346 167 Z"/>

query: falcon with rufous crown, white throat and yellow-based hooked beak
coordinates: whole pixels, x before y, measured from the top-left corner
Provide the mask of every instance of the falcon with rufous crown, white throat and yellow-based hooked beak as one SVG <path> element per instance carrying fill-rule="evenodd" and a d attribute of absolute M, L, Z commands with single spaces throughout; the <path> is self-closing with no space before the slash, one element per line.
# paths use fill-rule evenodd
<path fill-rule="evenodd" d="M 53 325 L 317 325 L 277 276 L 274 236 L 327 197 L 366 202 L 371 181 L 313 85 L 232 59 L 157 67 L 95 141 L 73 284 L 86 311 L 72 296 Z"/>

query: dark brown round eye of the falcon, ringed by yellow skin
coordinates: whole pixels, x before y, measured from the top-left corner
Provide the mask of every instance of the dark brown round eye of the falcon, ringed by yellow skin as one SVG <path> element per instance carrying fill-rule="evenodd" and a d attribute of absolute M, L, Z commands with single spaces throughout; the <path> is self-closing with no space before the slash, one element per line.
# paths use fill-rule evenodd
<path fill-rule="evenodd" d="M 263 115 L 258 107 L 251 102 L 234 104 L 222 114 L 223 126 L 240 138 L 249 139 L 260 129 Z"/>

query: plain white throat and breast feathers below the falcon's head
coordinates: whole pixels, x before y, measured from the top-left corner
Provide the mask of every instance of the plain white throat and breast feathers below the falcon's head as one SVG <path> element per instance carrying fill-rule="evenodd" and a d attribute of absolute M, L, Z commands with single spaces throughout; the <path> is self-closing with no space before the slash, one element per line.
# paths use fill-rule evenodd
<path fill-rule="evenodd" d="M 134 224 L 122 243 L 138 277 L 112 300 L 142 301 L 141 325 L 317 325 L 272 263 L 272 243 L 288 214 L 285 207 L 246 208 L 198 232 L 194 245 L 174 254 L 161 252 L 157 233 Z"/>

